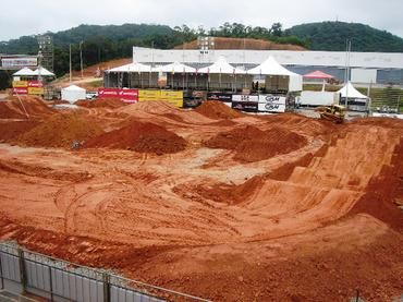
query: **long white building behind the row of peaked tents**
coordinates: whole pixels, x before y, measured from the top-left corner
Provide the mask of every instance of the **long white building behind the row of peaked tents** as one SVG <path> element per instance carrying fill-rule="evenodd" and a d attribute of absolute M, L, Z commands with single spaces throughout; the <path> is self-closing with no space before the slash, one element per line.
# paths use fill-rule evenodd
<path fill-rule="evenodd" d="M 321 70 L 344 82 L 350 61 L 350 80 L 358 84 L 403 85 L 403 53 L 351 52 L 350 60 L 341 51 L 290 51 L 290 50 L 182 50 L 133 48 L 133 60 L 139 63 L 162 65 L 182 62 L 203 68 L 225 57 L 234 67 L 245 70 L 254 68 L 272 56 L 286 69 L 306 74 Z"/>

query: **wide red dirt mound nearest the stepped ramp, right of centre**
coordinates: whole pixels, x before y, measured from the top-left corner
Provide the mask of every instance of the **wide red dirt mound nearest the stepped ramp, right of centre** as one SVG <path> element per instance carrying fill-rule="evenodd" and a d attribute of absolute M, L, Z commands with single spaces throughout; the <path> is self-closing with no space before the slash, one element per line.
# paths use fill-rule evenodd
<path fill-rule="evenodd" d="M 220 133 L 205 142 L 205 146 L 209 148 L 235 150 L 234 159 L 246 162 L 286 154 L 306 144 L 307 140 L 304 136 L 283 128 L 273 126 L 268 131 L 261 131 L 249 125 Z"/>

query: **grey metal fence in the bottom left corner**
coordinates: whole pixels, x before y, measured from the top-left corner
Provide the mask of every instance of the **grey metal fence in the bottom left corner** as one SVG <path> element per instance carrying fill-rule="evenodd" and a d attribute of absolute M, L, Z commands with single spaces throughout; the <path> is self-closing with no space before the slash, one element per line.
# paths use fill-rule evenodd
<path fill-rule="evenodd" d="M 0 289 L 50 301 L 208 301 L 0 243 Z"/>

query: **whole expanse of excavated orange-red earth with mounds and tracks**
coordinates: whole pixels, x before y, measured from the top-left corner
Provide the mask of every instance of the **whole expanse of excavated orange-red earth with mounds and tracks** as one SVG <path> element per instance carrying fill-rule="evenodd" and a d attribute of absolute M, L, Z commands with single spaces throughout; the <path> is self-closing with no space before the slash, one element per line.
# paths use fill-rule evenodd
<path fill-rule="evenodd" d="M 403 294 L 403 121 L 15 106 L 2 240 L 212 301 Z"/>

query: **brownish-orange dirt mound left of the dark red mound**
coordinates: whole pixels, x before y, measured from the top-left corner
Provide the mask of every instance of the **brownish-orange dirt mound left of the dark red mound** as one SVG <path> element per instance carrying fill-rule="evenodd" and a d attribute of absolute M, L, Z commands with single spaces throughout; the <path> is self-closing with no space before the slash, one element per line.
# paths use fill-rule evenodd
<path fill-rule="evenodd" d="M 57 114 L 19 137 L 28 146 L 71 147 L 73 142 L 83 142 L 103 133 L 93 120 L 78 113 Z"/>

